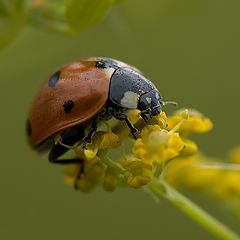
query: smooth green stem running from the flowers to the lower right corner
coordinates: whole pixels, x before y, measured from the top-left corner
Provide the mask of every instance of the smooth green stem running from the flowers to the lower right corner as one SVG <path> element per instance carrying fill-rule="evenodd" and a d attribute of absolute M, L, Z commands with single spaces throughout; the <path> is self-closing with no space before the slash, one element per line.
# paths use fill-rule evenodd
<path fill-rule="evenodd" d="M 164 197 L 170 203 L 186 213 L 208 231 L 213 233 L 219 239 L 240 240 L 240 237 L 230 230 L 227 226 L 219 222 L 216 218 L 209 215 L 191 200 L 183 196 L 176 189 L 171 187 L 163 180 L 153 180 L 148 184 L 149 188 L 157 195 Z"/>

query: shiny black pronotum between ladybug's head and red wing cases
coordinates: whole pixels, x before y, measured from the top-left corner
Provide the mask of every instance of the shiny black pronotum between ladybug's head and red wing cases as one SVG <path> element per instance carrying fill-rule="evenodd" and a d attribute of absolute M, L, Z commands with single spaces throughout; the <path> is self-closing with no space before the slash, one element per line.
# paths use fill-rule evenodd
<path fill-rule="evenodd" d="M 156 87 L 142 74 L 130 68 L 119 68 L 111 78 L 109 99 L 121 106 L 120 103 L 125 92 L 134 92 L 140 96 L 153 89 L 156 89 Z"/>

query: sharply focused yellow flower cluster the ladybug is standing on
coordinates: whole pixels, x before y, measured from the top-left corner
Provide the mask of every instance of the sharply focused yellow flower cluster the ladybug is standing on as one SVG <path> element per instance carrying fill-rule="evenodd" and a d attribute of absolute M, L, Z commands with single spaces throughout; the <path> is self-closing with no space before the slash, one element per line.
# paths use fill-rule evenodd
<path fill-rule="evenodd" d="M 174 184 L 180 170 L 194 165 L 189 159 L 194 159 L 192 156 L 198 152 L 198 147 L 189 139 L 190 133 L 209 131 L 212 128 L 209 119 L 196 111 L 183 110 L 169 118 L 162 112 L 145 123 L 138 113 L 134 110 L 128 114 L 138 129 L 137 140 L 133 139 L 124 122 L 118 122 L 112 128 L 108 126 L 107 131 L 98 131 L 93 142 L 87 144 L 87 149 L 82 149 L 82 143 L 73 147 L 76 155 L 83 159 L 83 164 L 69 166 L 65 172 L 66 181 L 83 192 L 96 186 L 113 191 L 123 184 L 139 188 L 160 174 Z M 132 144 L 129 155 L 124 153 L 125 140 Z M 107 155 L 113 148 L 122 148 L 122 157 L 117 161 L 110 160 Z M 163 165 L 166 167 L 162 173 L 159 169 Z"/>

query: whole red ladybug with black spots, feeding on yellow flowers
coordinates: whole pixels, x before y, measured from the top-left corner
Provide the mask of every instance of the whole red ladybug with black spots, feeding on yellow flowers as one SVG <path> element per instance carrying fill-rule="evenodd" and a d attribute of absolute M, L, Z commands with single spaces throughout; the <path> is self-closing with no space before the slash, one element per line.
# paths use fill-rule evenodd
<path fill-rule="evenodd" d="M 26 131 L 29 144 L 37 150 L 51 149 L 53 163 L 82 163 L 81 159 L 59 159 L 68 149 L 55 144 L 73 145 L 92 142 L 103 119 L 125 121 L 133 135 L 137 131 L 126 110 L 139 109 L 148 116 L 161 113 L 162 96 L 154 84 L 135 67 L 110 58 L 88 58 L 60 67 L 45 81 L 30 108 Z M 88 130 L 88 132 L 87 132 Z"/>

